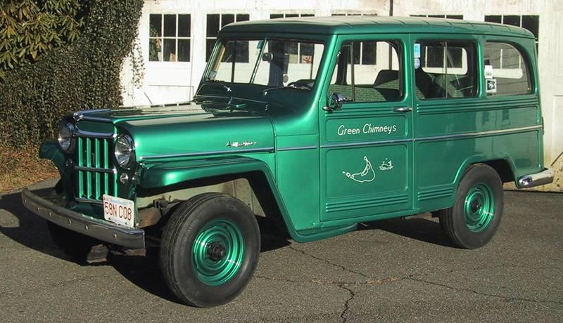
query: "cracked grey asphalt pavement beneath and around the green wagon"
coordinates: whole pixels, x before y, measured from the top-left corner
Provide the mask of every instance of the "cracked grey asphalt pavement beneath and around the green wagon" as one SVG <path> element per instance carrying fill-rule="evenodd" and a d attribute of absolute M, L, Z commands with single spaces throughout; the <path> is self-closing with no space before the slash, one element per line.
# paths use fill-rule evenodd
<path fill-rule="evenodd" d="M 34 185 L 41 190 L 53 180 Z M 19 192 L 0 196 L 0 317 L 15 321 L 562 322 L 563 194 L 506 192 L 497 235 L 456 249 L 436 219 L 363 223 L 307 244 L 267 223 L 254 277 L 232 303 L 177 303 L 146 257 L 80 265 L 51 241 Z"/>

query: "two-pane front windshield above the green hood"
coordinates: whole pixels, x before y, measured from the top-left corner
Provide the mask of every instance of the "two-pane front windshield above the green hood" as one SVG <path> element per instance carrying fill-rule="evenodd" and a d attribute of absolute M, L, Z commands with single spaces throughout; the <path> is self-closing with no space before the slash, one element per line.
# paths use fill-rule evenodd
<path fill-rule="evenodd" d="M 315 86 L 324 50 L 314 41 L 289 39 L 223 39 L 218 46 L 205 81 L 305 91 Z"/>

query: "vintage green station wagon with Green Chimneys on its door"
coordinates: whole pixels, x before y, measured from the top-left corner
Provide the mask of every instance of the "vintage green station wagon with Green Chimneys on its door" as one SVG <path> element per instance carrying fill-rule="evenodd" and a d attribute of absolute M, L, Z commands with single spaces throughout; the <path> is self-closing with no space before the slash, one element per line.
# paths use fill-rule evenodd
<path fill-rule="evenodd" d="M 157 244 L 170 290 L 201 307 L 248 284 L 256 216 L 310 242 L 431 212 L 478 248 L 500 225 L 502 183 L 553 178 L 536 60 L 530 32 L 485 22 L 234 23 L 190 103 L 63 119 L 39 152 L 56 194 L 23 203 L 63 249 Z"/>

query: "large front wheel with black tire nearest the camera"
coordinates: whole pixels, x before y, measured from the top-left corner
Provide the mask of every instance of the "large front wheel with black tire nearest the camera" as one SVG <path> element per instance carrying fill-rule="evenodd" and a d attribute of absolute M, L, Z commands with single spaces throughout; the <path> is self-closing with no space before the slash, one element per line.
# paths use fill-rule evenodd
<path fill-rule="evenodd" d="M 238 234 L 219 234 L 227 229 Z M 224 243 L 222 238 L 232 238 L 233 242 Z M 195 244 L 196 239 L 201 243 Z M 239 242 L 243 242 L 243 251 L 229 248 Z M 213 253 L 214 246 L 222 251 Z M 160 270 L 166 284 L 182 303 L 202 308 L 221 305 L 238 296 L 250 281 L 258 256 L 260 229 L 251 209 L 239 199 L 220 193 L 197 195 L 180 205 L 170 216 L 160 242 Z M 239 261 L 233 261 L 236 257 Z M 227 269 L 212 275 L 215 271 L 205 271 L 207 265 L 224 265 Z"/>

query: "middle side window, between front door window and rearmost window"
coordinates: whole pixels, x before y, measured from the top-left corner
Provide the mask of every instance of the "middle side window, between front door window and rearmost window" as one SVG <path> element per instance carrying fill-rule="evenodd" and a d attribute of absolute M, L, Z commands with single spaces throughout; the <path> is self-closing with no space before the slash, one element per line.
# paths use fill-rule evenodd
<path fill-rule="evenodd" d="M 469 98 L 477 93 L 476 50 L 470 41 L 415 44 L 417 98 Z"/>

